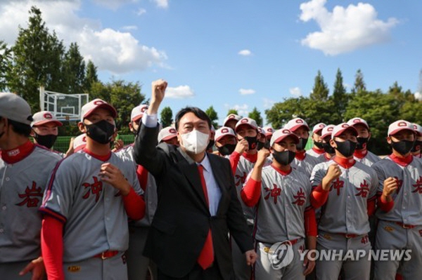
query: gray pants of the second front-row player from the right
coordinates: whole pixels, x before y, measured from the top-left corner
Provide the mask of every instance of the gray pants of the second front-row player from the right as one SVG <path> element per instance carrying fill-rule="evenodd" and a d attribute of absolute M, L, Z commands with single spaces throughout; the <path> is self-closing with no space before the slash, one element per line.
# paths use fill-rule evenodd
<path fill-rule="evenodd" d="M 326 252 L 343 252 L 338 258 L 326 260 L 321 258 L 316 260 L 316 279 L 319 280 L 338 280 L 340 270 L 343 268 L 344 280 L 369 280 L 371 271 L 371 260 L 369 254 L 371 243 L 368 235 L 361 235 L 354 238 L 346 238 L 341 234 L 330 234 L 319 232 L 316 249 Z M 364 251 L 362 258 L 346 258 L 347 252 L 352 252 L 357 256 L 357 250 Z"/>

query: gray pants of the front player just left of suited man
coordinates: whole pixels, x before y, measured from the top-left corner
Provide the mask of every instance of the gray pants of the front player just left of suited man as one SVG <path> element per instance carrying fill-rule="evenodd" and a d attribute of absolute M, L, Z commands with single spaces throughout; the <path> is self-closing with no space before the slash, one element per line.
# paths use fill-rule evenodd
<path fill-rule="evenodd" d="M 64 262 L 66 280 L 127 280 L 126 255 L 113 258 L 89 258 L 80 262 Z"/>

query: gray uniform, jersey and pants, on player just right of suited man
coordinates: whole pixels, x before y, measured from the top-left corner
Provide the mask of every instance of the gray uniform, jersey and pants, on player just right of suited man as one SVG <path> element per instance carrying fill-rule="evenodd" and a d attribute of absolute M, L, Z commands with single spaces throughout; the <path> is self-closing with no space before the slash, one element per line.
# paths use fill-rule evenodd
<path fill-rule="evenodd" d="M 256 206 L 254 238 L 257 241 L 255 279 L 305 279 L 299 250 L 305 249 L 305 208 L 310 207 L 309 178 L 292 168 L 282 175 L 273 166 L 262 168 L 261 196 Z M 293 260 L 274 269 L 268 249 L 276 242 L 292 241 Z M 286 278 L 287 277 L 287 278 Z"/>

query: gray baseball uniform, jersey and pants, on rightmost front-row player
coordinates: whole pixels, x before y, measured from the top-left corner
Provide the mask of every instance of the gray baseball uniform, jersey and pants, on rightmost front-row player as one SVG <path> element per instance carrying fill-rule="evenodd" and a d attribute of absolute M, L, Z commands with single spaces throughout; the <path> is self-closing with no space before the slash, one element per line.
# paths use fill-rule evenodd
<path fill-rule="evenodd" d="M 388 212 L 378 208 L 380 220 L 376 248 L 411 250 L 407 261 L 386 260 L 375 263 L 375 279 L 395 279 L 397 269 L 403 279 L 418 279 L 422 275 L 422 161 L 415 160 L 403 166 L 387 156 L 372 166 L 378 174 L 378 195 L 383 192 L 383 182 L 396 178 L 397 192 L 392 194 L 394 206 Z"/>

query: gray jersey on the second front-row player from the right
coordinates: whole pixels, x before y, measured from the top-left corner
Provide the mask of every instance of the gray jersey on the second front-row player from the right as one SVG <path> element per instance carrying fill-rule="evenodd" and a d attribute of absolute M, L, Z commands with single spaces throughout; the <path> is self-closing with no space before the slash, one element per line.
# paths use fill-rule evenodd
<path fill-rule="evenodd" d="M 321 184 L 328 167 L 336 162 L 317 164 L 312 171 L 312 186 Z M 376 198 L 378 178 L 376 172 L 360 162 L 350 168 L 338 164 L 341 175 L 333 180 L 326 203 L 321 206 L 319 230 L 340 234 L 366 234 L 369 232 L 368 200 Z"/>

